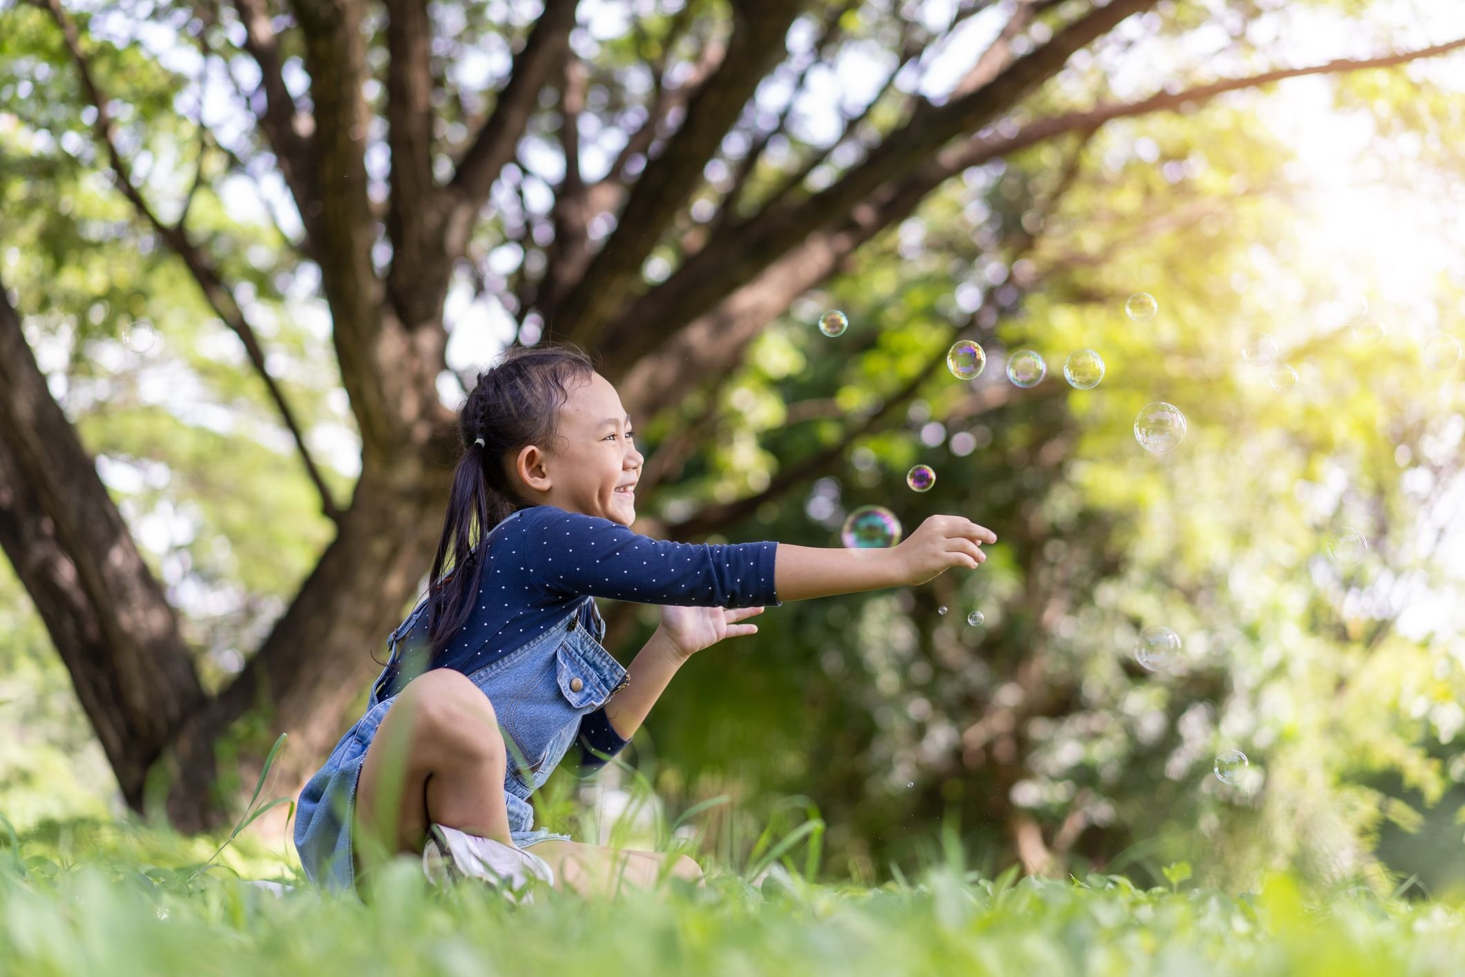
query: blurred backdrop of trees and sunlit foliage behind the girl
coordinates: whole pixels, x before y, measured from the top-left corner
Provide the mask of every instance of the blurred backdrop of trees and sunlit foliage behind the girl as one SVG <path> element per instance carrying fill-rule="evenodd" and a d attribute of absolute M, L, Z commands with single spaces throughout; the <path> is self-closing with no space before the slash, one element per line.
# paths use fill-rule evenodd
<path fill-rule="evenodd" d="M 7 811 L 217 823 L 278 731 L 296 791 L 425 584 L 464 387 L 568 338 L 646 437 L 646 532 L 1001 536 L 699 656 L 640 740 L 672 806 L 807 795 L 866 877 L 949 819 L 1030 872 L 1446 883 L 1461 45 L 1408 0 L 0 4 Z M 653 625 L 611 617 L 623 656 Z"/>

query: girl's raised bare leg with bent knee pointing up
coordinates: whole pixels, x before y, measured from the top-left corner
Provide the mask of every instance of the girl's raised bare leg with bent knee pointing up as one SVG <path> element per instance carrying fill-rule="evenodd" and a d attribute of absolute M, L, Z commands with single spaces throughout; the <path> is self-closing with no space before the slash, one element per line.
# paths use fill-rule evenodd
<path fill-rule="evenodd" d="M 356 787 L 357 876 L 382 858 L 422 851 L 429 823 L 513 844 L 504 801 L 508 762 L 488 696 L 435 668 L 387 710 Z"/>

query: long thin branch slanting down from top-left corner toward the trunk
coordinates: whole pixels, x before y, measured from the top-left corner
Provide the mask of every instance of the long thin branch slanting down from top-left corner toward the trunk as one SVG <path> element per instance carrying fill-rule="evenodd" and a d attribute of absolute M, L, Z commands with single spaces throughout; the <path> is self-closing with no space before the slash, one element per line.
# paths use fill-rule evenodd
<path fill-rule="evenodd" d="M 86 100 L 91 103 L 92 108 L 97 111 L 97 122 L 92 129 L 97 133 L 97 139 L 107 149 L 107 160 L 117 177 L 117 187 L 122 190 L 123 196 L 132 202 L 138 214 L 152 226 L 154 231 L 167 243 L 168 249 L 183 261 L 189 274 L 193 275 L 193 281 L 198 283 L 198 287 L 202 290 L 204 299 L 209 303 L 209 306 L 212 306 L 218 318 L 223 319 L 224 324 L 233 330 L 239 340 L 245 344 L 245 353 L 249 356 L 249 363 L 264 381 L 270 400 L 274 401 L 275 410 L 280 412 L 280 419 L 284 422 L 286 428 L 290 431 L 290 437 L 294 439 L 296 451 L 305 464 L 306 475 L 309 475 L 311 482 L 321 494 L 322 511 L 333 521 L 340 521 L 340 510 L 331 498 L 331 492 L 325 485 L 325 479 L 321 476 L 321 470 L 311 457 L 311 451 L 305 444 L 305 434 L 302 432 L 299 422 L 294 419 L 294 412 L 284 398 L 284 391 L 280 390 L 280 385 L 275 384 L 270 371 L 265 369 L 265 354 L 259 347 L 253 328 L 249 325 L 249 319 L 234 300 L 233 291 L 224 286 L 212 262 L 204 255 L 202 249 L 189 239 L 188 229 L 183 226 L 183 218 L 180 217 L 177 224 L 164 223 L 142 196 L 142 192 L 132 176 L 130 164 L 117 149 L 111 114 L 107 111 L 110 101 L 98 88 L 91 70 L 91 63 L 86 60 L 85 51 L 82 51 L 81 31 L 76 28 L 76 22 L 72 21 L 64 9 L 62 9 L 60 0 L 45 0 L 45 6 L 51 19 L 56 21 L 56 25 L 62 31 L 66 50 L 72 57 L 72 63 L 76 66 L 78 75 L 81 76 L 82 91 L 86 94 Z M 201 170 L 202 166 L 202 160 L 199 160 Z M 192 193 L 189 196 L 192 196 Z M 185 205 L 185 215 L 186 211 L 188 207 Z"/>

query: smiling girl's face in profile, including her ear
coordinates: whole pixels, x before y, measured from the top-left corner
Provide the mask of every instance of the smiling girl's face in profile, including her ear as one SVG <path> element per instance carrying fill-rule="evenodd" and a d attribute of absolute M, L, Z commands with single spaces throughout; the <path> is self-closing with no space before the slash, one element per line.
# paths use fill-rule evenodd
<path fill-rule="evenodd" d="M 523 495 L 539 505 L 630 526 L 643 460 L 620 395 L 611 381 L 592 374 L 570 387 L 554 444 L 520 448 L 511 467 Z"/>

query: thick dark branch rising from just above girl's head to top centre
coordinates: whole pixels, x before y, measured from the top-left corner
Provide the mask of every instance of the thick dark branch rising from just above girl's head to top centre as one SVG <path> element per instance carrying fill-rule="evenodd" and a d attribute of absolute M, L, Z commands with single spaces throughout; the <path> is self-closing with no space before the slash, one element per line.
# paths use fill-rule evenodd
<path fill-rule="evenodd" d="M 797 4 L 741 0 L 732 4 L 732 37 L 716 75 L 687 105 L 687 117 L 665 151 L 646 164 L 631 187 L 620 223 L 565 297 L 557 333 L 596 346 L 605 324 L 631 297 L 640 268 L 671 224 L 727 130 L 743 111 L 768 67 L 784 51 Z"/>

